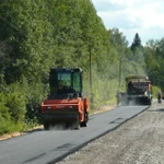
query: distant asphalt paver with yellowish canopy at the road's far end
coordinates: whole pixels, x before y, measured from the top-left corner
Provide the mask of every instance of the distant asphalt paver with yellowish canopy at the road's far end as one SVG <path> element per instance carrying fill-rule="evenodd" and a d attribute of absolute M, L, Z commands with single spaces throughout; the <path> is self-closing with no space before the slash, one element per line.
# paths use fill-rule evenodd
<path fill-rule="evenodd" d="M 125 78 L 126 93 L 121 94 L 121 104 L 152 104 L 152 85 L 147 75 L 128 75 Z"/>

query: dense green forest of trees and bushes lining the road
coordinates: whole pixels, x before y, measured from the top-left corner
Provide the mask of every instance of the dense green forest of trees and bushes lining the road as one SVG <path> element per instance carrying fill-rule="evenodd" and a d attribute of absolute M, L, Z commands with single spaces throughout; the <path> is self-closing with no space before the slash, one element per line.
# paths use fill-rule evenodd
<path fill-rule="evenodd" d="M 0 0 L 0 134 L 42 124 L 50 68 L 83 70 L 91 110 L 116 104 L 129 74 L 147 74 L 154 97 L 164 90 L 164 38 L 143 46 L 136 33 L 128 43 L 106 30 L 91 0 Z"/>

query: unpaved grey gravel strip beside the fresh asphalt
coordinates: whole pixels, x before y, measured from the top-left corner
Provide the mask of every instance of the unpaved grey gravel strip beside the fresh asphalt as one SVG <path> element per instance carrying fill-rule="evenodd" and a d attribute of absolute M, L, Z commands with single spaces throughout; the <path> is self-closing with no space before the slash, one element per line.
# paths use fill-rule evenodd
<path fill-rule="evenodd" d="M 154 102 L 58 164 L 164 164 L 164 103 Z"/>

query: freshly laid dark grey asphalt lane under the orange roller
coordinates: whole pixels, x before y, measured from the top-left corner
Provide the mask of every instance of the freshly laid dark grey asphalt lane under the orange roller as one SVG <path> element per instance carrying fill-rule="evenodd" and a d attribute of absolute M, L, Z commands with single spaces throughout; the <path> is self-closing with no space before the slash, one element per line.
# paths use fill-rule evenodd
<path fill-rule="evenodd" d="M 80 130 L 45 131 L 38 129 L 24 136 L 0 141 L 0 164 L 48 164 L 61 160 L 86 143 L 116 129 L 149 106 L 122 106 L 90 117 Z"/>

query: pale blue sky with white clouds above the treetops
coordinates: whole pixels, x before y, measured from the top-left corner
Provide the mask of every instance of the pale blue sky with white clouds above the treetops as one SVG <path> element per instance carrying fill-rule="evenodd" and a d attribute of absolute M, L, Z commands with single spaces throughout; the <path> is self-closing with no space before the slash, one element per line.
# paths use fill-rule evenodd
<path fill-rule="evenodd" d="M 105 27 L 117 27 L 132 44 L 136 33 L 145 45 L 164 37 L 164 0 L 91 0 Z"/>

